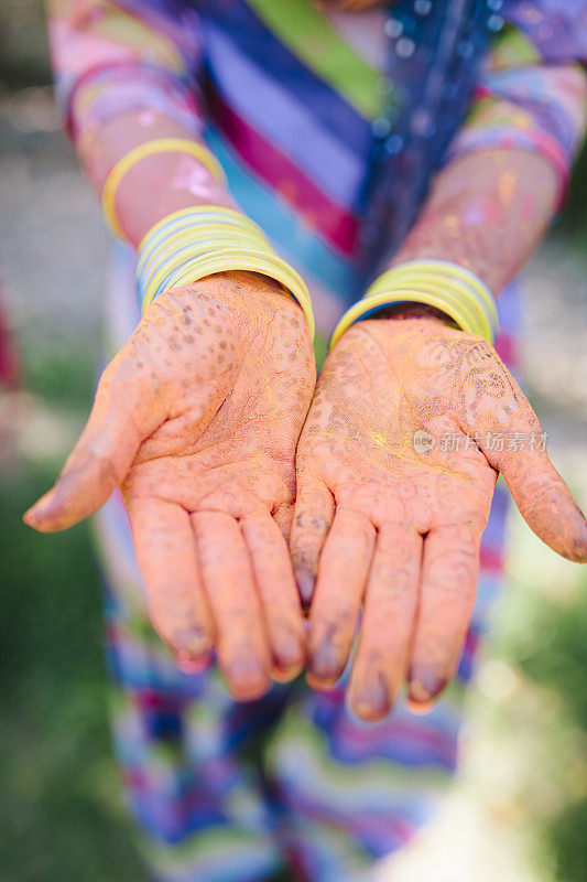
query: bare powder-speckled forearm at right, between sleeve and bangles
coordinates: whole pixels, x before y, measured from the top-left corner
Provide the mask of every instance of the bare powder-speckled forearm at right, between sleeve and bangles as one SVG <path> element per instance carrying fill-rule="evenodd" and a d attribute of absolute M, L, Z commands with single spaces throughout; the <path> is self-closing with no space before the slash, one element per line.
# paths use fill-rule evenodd
<path fill-rule="evenodd" d="M 523 150 L 456 159 L 436 176 L 416 224 L 391 266 L 450 260 L 497 297 L 541 240 L 555 211 L 556 173 Z"/>

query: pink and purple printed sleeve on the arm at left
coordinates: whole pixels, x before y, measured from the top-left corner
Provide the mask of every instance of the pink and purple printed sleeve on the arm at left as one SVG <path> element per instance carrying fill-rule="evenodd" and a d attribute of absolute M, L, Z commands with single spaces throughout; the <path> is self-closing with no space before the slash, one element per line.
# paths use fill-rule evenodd
<path fill-rule="evenodd" d="M 57 104 L 76 143 L 131 111 L 155 111 L 196 135 L 199 20 L 172 0 L 47 0 Z"/>

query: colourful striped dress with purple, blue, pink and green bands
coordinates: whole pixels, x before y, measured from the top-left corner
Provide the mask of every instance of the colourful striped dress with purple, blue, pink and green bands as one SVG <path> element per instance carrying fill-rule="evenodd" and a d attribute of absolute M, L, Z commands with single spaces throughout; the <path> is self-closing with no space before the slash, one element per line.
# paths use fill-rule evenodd
<path fill-rule="evenodd" d="M 318 357 L 363 292 L 382 212 L 384 257 L 442 162 L 511 146 L 544 155 L 564 194 L 583 136 L 587 0 L 402 0 L 361 13 L 311 0 L 52 7 L 74 142 L 138 109 L 203 132 L 237 203 L 307 281 Z M 105 358 L 139 320 L 134 260 L 113 246 Z M 513 287 L 499 309 L 497 346 L 511 365 Z M 154 879 L 250 882 L 293 867 L 301 879 L 356 882 L 409 841 L 456 768 L 463 696 L 502 582 L 506 510 L 498 486 L 457 681 L 425 717 L 400 703 L 368 724 L 345 708 L 345 676 L 328 693 L 300 680 L 239 704 L 214 665 L 181 673 L 150 627 L 126 510 L 110 499 L 95 525 L 115 745 Z"/>

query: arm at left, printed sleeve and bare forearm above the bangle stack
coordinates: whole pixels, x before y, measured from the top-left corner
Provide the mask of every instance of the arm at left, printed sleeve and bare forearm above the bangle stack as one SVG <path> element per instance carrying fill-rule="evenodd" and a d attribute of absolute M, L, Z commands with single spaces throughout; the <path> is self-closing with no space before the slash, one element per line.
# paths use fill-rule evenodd
<path fill-rule="evenodd" d="M 64 127 L 99 194 L 117 162 L 141 143 L 198 141 L 202 39 L 189 4 L 45 2 Z M 123 234 L 138 245 L 166 214 L 209 203 L 230 205 L 205 164 L 177 151 L 132 165 L 109 211 L 113 207 Z"/>

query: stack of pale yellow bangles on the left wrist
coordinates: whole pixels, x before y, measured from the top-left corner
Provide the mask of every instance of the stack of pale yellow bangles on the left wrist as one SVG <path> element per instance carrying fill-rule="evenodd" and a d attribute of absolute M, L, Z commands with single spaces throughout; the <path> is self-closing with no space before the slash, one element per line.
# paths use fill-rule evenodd
<path fill-rule="evenodd" d="M 275 279 L 300 303 L 314 335 L 308 290 L 271 248 L 252 220 L 224 206 L 182 208 L 164 217 L 139 246 L 137 291 L 143 311 L 163 291 L 228 270 L 248 270 Z"/>

